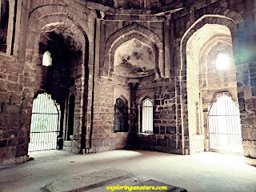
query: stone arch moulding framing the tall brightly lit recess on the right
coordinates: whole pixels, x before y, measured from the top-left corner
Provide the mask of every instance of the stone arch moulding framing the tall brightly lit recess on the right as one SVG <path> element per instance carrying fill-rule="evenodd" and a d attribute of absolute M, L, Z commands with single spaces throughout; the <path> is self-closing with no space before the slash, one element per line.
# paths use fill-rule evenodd
<path fill-rule="evenodd" d="M 177 20 L 178 22 L 178 20 Z M 186 25 L 182 26 L 178 37 L 180 37 L 179 44 L 179 53 L 177 62 L 175 63 L 175 70 L 179 71 L 180 77 L 186 76 L 187 63 L 186 63 L 186 45 L 190 37 L 194 34 L 195 31 L 202 28 L 206 24 L 218 24 L 222 26 L 227 26 L 230 30 L 232 36 L 232 44 L 233 44 L 233 54 L 234 59 L 237 60 L 239 58 L 239 46 L 238 43 L 241 43 L 241 38 L 244 38 L 244 29 L 245 22 L 240 14 L 238 14 L 234 10 L 229 10 L 225 8 L 202 8 L 200 10 L 194 11 L 194 17 L 190 18 L 189 22 L 186 22 Z M 180 102 L 181 102 L 181 113 L 183 114 L 181 117 L 182 124 L 182 140 L 188 136 L 189 126 L 188 119 L 185 118 L 188 115 L 187 108 L 187 82 L 186 77 L 179 79 L 179 88 L 181 90 L 180 94 Z M 185 142 L 182 142 L 182 148 L 185 148 Z"/>

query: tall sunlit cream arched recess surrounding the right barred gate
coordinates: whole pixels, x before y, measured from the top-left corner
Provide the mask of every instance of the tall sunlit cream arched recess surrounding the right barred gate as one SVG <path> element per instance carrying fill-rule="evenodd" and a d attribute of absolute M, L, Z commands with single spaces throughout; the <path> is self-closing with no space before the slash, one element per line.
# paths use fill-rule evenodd
<path fill-rule="evenodd" d="M 186 85 L 190 153 L 207 151 L 207 114 L 216 93 L 229 92 L 238 103 L 230 29 L 205 24 L 186 42 Z M 240 130 L 241 131 L 241 130 Z"/>

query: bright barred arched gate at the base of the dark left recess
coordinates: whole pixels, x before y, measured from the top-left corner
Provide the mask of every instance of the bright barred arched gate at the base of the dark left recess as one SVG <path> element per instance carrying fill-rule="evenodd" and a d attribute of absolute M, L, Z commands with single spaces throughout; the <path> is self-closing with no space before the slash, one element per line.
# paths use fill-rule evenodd
<path fill-rule="evenodd" d="M 29 152 L 57 148 L 59 117 L 58 106 L 50 94 L 38 94 L 32 108 Z"/>

